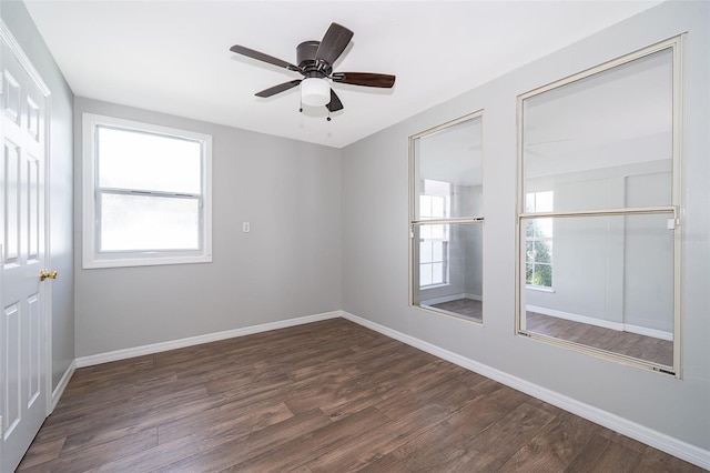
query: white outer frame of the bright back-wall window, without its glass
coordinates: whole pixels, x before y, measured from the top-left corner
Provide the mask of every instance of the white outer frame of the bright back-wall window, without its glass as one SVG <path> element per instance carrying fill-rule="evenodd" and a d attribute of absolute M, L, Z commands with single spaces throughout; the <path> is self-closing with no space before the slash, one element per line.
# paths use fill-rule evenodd
<path fill-rule="evenodd" d="M 186 139 L 201 144 L 200 246 L 196 250 L 100 252 L 101 215 L 98 209 L 97 129 L 123 129 Z M 171 193 L 155 197 L 180 198 Z M 194 197 L 193 197 L 194 198 Z M 212 137 L 187 130 L 142 123 L 94 113 L 82 114 L 82 268 L 122 268 L 158 264 L 206 263 L 212 261 Z"/>

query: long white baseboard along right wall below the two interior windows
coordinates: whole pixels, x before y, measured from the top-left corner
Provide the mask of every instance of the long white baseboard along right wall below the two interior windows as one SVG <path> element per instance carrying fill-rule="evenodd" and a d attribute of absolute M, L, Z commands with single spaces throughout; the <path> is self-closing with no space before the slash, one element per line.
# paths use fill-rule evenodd
<path fill-rule="evenodd" d="M 534 397 L 556 405 L 580 417 L 587 419 L 607 429 L 611 429 L 622 435 L 627 435 L 670 455 L 682 459 L 689 463 L 710 470 L 710 450 L 704 450 L 696 445 L 691 445 L 687 442 L 674 439 L 670 435 L 666 435 L 652 429 L 631 422 L 627 419 L 620 417 L 610 412 L 595 407 L 584 402 L 577 401 L 572 397 L 559 394 L 555 391 L 550 391 L 546 388 L 530 383 L 529 381 L 510 375 L 506 372 L 496 370 L 483 363 L 478 363 L 468 358 L 462 356 L 457 353 L 442 349 L 440 346 L 407 335 L 378 323 L 372 322 L 367 319 L 353 315 L 348 312 L 341 312 L 344 319 L 355 322 L 359 325 L 372 329 L 392 339 L 398 340 L 403 343 L 412 345 L 416 349 L 423 350 L 435 356 L 449 361 L 454 364 L 463 366 L 467 370 L 474 371 L 491 380 L 498 381 L 507 386 L 521 391 Z"/>

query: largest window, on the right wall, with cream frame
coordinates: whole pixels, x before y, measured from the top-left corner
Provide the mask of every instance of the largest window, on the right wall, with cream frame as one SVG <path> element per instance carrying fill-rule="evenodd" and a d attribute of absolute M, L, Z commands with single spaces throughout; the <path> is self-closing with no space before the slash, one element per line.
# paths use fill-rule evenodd
<path fill-rule="evenodd" d="M 519 334 L 679 375 L 681 46 L 518 97 Z"/>

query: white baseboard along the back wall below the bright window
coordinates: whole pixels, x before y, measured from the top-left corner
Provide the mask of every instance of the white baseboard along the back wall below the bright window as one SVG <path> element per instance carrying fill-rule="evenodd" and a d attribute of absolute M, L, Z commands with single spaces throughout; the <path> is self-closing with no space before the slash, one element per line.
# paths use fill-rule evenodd
<path fill-rule="evenodd" d="M 152 343 L 150 345 L 135 346 L 131 349 L 115 350 L 106 353 L 99 353 L 89 356 L 78 358 L 77 368 L 92 366 L 94 364 L 108 363 L 111 361 L 125 360 L 153 353 L 165 352 L 168 350 L 182 349 L 185 346 L 200 345 L 202 343 L 216 342 L 235 336 L 251 335 L 253 333 L 267 332 L 270 330 L 285 329 L 288 326 L 303 325 L 304 323 L 318 322 L 327 319 L 341 316 L 341 311 L 325 312 L 315 315 L 305 315 L 295 319 L 286 319 L 277 322 L 263 323 L 260 325 L 245 326 L 243 329 L 226 330 L 224 332 L 207 333 L 204 335 L 190 336 L 186 339 L 171 340 L 169 342 Z"/>

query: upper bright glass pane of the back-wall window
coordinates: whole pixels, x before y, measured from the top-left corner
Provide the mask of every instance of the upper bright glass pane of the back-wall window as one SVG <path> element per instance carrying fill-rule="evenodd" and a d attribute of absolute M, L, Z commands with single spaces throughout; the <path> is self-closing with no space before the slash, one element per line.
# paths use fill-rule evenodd
<path fill-rule="evenodd" d="M 99 185 L 201 193 L 197 141 L 97 127 Z"/>

